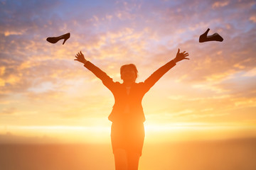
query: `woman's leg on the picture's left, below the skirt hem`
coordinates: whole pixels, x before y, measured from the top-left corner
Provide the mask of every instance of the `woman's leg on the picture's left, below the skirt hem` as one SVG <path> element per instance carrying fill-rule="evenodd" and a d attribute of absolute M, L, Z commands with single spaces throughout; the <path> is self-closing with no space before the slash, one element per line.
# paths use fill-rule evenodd
<path fill-rule="evenodd" d="M 114 166 L 115 170 L 127 170 L 127 152 L 124 149 L 114 150 Z"/>

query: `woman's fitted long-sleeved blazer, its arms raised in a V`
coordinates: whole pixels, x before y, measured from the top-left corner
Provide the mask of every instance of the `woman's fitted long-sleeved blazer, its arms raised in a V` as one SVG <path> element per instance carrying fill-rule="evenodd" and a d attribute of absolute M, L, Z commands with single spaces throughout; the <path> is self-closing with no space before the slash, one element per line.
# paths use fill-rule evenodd
<path fill-rule="evenodd" d="M 144 82 L 134 83 L 131 86 L 129 95 L 127 94 L 127 89 L 124 84 L 121 84 L 118 81 L 114 82 L 112 78 L 91 62 L 86 62 L 84 66 L 95 74 L 96 77 L 101 79 L 102 83 L 107 89 L 110 89 L 114 95 L 114 106 L 108 117 L 112 123 L 143 123 L 146 120 L 142 108 L 143 96 L 149 91 L 151 86 L 154 86 L 156 81 L 175 65 L 176 63 L 171 60 L 157 69 L 156 72 L 151 74 L 151 76 Z M 129 110 L 128 112 L 127 109 Z"/>

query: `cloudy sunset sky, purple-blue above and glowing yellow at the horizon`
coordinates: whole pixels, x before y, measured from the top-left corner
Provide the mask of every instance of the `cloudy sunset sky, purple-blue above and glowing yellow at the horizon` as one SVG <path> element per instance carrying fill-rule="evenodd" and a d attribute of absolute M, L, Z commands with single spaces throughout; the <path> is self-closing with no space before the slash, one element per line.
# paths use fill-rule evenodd
<path fill-rule="evenodd" d="M 178 62 L 144 96 L 145 142 L 256 137 L 256 1 L 0 1 L 0 142 L 108 142 L 120 81 Z M 198 42 L 219 33 L 223 42 Z M 46 41 L 70 33 L 55 44 Z"/>

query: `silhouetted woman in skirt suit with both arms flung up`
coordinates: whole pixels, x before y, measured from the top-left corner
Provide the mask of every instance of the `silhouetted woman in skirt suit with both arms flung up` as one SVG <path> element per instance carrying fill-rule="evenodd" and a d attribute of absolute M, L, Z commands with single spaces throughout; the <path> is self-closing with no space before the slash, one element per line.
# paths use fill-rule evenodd
<path fill-rule="evenodd" d="M 174 60 L 167 62 L 156 70 L 144 82 L 136 83 L 137 68 L 134 64 L 123 65 L 120 69 L 123 83 L 114 82 L 105 72 L 91 62 L 85 60 L 82 52 L 75 55 L 78 62 L 89 69 L 102 83 L 112 91 L 114 106 L 109 115 L 112 121 L 111 143 L 114 153 L 116 170 L 137 170 L 139 157 L 142 156 L 144 143 L 145 116 L 142 108 L 142 98 L 166 72 L 176 65 L 176 62 L 188 60 L 188 52 L 180 53 L 178 49 Z"/>

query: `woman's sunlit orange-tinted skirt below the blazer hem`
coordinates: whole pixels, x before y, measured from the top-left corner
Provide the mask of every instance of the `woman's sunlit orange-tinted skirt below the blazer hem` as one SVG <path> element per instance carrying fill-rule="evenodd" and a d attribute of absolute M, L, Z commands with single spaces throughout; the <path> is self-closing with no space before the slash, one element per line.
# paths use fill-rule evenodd
<path fill-rule="evenodd" d="M 144 136 L 143 123 L 112 123 L 111 143 L 113 153 L 116 149 L 124 149 L 127 153 L 135 152 L 142 156 Z"/>

